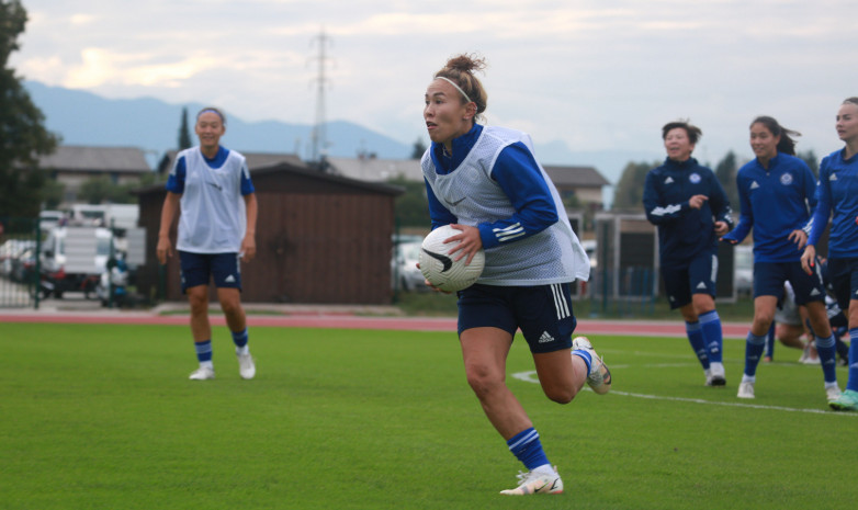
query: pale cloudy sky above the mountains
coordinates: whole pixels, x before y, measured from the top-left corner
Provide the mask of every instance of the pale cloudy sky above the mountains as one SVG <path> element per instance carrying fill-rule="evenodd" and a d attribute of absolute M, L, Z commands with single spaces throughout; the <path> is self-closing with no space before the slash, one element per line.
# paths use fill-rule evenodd
<path fill-rule="evenodd" d="M 320 44 L 326 116 L 410 144 L 432 73 L 485 56 L 489 124 L 573 151 L 663 154 L 661 126 L 703 129 L 700 159 L 749 157 L 772 115 L 799 149 L 839 147 L 858 95 L 855 0 L 25 0 L 11 65 L 108 98 L 211 103 L 245 121 L 313 123 Z"/>

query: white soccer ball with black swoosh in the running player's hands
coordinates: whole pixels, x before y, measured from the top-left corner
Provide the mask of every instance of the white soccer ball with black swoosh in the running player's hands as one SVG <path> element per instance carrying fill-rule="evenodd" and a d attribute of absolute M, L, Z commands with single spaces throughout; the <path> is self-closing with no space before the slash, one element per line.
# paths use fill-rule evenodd
<path fill-rule="evenodd" d="M 420 247 L 420 272 L 424 277 L 441 291 L 455 292 L 467 288 L 476 282 L 483 268 L 486 265 L 486 253 L 482 249 L 474 254 L 471 263 L 465 265 L 467 257 L 460 260 L 453 260 L 459 257 L 459 252 L 450 257 L 450 250 L 455 248 L 459 242 L 444 245 L 444 239 L 462 234 L 450 225 L 438 227 L 424 239 Z"/>

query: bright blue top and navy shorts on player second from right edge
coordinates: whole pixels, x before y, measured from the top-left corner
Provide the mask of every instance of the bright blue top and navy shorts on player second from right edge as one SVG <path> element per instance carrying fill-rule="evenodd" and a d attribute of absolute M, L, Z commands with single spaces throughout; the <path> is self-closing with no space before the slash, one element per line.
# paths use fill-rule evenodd
<path fill-rule="evenodd" d="M 765 169 L 758 159 L 744 165 L 736 175 L 738 225 L 724 236 L 742 242 L 754 229 L 754 296 L 783 296 L 789 281 L 795 303 L 825 301 L 821 274 L 808 275 L 801 269 L 793 230 L 810 230 L 810 209 L 816 206 L 816 180 L 808 165 L 794 156 L 778 152 Z"/>

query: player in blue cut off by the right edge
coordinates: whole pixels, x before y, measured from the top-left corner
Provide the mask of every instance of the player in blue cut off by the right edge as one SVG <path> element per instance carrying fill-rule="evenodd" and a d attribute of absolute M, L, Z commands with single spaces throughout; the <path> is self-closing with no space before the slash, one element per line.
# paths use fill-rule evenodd
<path fill-rule="evenodd" d="M 816 186 L 816 211 L 801 257 L 801 265 L 813 273 L 816 264 L 816 242 L 828 227 L 828 271 L 834 295 L 849 324 L 849 376 L 846 390 L 828 401 L 835 410 L 858 410 L 858 98 L 846 99 L 837 111 L 837 135 L 846 144 L 820 165 Z"/>

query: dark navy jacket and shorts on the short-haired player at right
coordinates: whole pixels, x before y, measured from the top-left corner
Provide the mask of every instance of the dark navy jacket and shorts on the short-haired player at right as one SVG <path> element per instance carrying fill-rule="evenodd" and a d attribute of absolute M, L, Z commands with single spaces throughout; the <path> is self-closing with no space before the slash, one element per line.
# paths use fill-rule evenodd
<path fill-rule="evenodd" d="M 699 209 L 689 206 L 705 195 Z M 670 307 L 691 303 L 691 294 L 715 295 L 718 236 L 715 222 L 733 224 L 730 202 L 715 174 L 695 158 L 665 162 L 646 174 L 646 219 L 658 228 L 658 253 Z"/>

